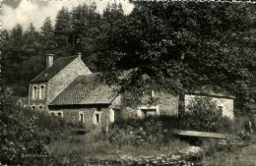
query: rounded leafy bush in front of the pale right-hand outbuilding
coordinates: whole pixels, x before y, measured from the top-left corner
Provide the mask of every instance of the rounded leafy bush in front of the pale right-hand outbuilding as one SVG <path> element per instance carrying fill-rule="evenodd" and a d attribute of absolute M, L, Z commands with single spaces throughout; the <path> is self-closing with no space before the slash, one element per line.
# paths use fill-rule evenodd
<path fill-rule="evenodd" d="M 228 118 L 209 97 L 196 97 L 181 115 L 181 126 L 187 130 L 220 132 L 228 124 Z"/>

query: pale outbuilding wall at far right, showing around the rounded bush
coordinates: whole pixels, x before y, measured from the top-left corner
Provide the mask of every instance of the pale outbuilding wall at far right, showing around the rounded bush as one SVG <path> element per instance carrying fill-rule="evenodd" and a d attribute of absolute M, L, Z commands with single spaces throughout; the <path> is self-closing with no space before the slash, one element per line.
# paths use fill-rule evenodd
<path fill-rule="evenodd" d="M 189 103 L 195 98 L 198 97 L 198 95 L 185 95 L 185 107 L 189 105 Z M 222 107 L 223 109 L 223 115 L 233 119 L 233 99 L 232 98 L 224 98 L 224 97 L 212 97 L 212 96 L 205 96 L 212 98 L 213 101 L 217 103 L 218 106 Z"/>

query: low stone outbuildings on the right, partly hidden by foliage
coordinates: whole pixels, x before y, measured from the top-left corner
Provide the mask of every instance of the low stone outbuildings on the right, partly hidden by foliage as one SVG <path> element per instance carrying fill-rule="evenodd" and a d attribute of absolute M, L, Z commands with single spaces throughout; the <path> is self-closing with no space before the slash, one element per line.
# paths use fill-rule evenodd
<path fill-rule="evenodd" d="M 208 90 L 206 90 L 208 89 Z M 136 109 L 126 107 L 126 111 L 122 112 L 122 117 L 128 118 L 145 118 L 147 116 L 159 116 L 159 115 L 178 115 L 183 109 L 180 108 L 182 104 L 184 111 L 190 102 L 198 96 L 209 97 L 216 102 L 217 106 L 222 110 L 223 115 L 229 119 L 234 118 L 234 96 L 226 93 L 218 93 L 211 88 L 202 88 L 201 90 L 195 90 L 186 94 L 171 94 L 163 91 L 153 91 L 152 98 L 157 98 L 157 102 L 154 104 L 142 103 Z"/>

